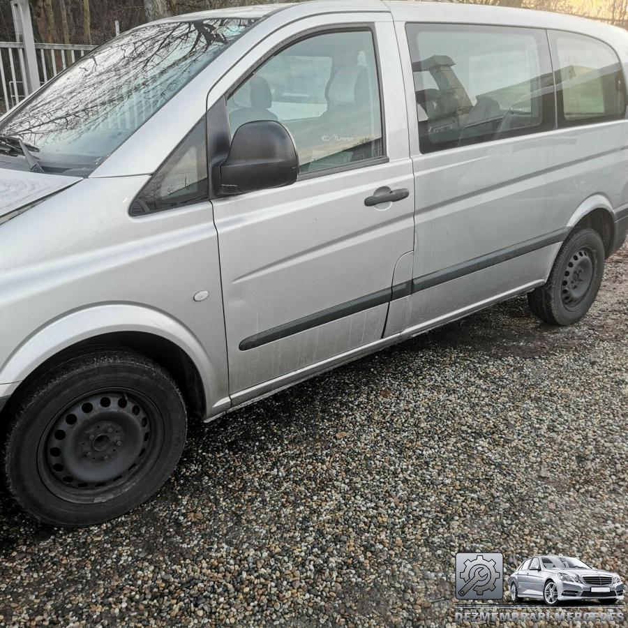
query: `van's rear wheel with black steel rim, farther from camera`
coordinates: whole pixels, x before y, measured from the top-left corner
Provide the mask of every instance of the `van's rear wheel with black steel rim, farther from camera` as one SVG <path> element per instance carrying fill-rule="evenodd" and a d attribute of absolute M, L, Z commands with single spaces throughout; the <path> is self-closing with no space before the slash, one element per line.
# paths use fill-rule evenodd
<path fill-rule="evenodd" d="M 604 275 L 604 243 L 593 229 L 577 229 L 563 243 L 547 283 L 528 292 L 532 313 L 551 325 L 570 325 L 589 311 Z"/>

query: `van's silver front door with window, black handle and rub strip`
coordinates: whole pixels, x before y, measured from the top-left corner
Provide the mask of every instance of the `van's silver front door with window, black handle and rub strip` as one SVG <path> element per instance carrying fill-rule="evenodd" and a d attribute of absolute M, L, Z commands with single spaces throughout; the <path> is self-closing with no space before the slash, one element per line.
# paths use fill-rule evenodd
<path fill-rule="evenodd" d="M 299 155 L 292 186 L 214 200 L 234 401 L 379 340 L 396 262 L 412 251 L 395 33 L 388 14 L 364 15 L 297 28 L 225 97 L 231 135 L 277 120 Z M 373 200 L 390 191 L 397 200 Z"/>

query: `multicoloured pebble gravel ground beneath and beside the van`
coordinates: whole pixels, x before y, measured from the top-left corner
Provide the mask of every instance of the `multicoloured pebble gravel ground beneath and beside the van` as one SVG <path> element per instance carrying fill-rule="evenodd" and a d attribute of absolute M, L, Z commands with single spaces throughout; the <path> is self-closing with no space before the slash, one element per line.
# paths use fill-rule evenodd
<path fill-rule="evenodd" d="M 117 521 L 4 497 L 0 624 L 453 625 L 457 551 L 626 580 L 627 314 L 625 247 L 581 324 L 513 299 L 193 428 Z"/>

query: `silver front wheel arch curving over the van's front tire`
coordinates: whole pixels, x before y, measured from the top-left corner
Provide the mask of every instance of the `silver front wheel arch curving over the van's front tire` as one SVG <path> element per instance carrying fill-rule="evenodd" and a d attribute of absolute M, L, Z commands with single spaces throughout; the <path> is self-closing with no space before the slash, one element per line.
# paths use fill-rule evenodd
<path fill-rule="evenodd" d="M 226 378 L 224 366 L 211 364 L 200 341 L 181 322 L 132 304 L 85 308 L 38 329 L 10 354 L 0 369 L 0 382 L 20 382 L 13 397 L 33 377 L 69 355 L 112 345 L 140 352 L 166 368 L 191 416 L 205 418 L 227 409 L 228 398 L 216 403 L 216 391 L 227 385 L 221 380 Z"/>

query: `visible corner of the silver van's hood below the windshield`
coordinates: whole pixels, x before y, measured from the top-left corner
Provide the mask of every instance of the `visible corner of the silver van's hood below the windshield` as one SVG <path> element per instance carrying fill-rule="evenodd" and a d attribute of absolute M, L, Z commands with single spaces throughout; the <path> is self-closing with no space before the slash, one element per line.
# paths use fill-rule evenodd
<path fill-rule="evenodd" d="M 73 186 L 82 177 L 0 168 L 0 223 L 20 209 Z"/>

